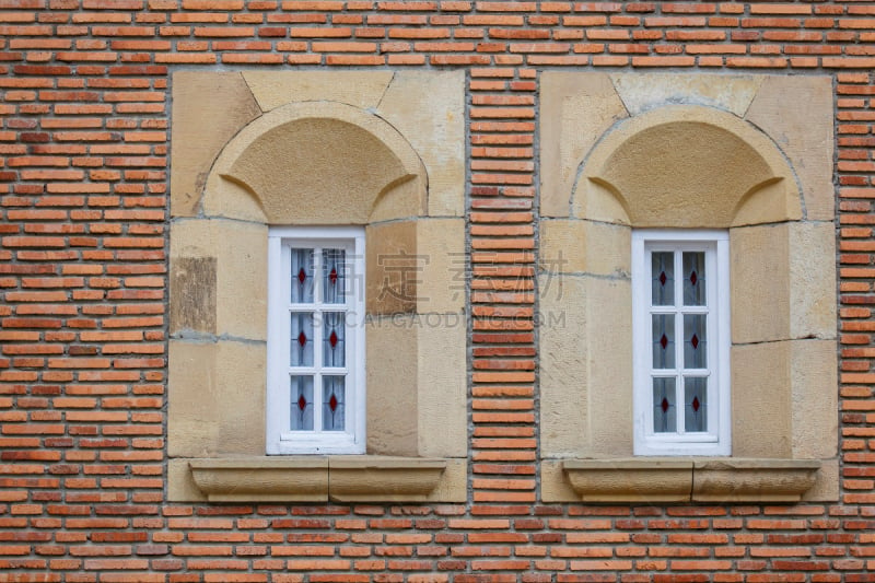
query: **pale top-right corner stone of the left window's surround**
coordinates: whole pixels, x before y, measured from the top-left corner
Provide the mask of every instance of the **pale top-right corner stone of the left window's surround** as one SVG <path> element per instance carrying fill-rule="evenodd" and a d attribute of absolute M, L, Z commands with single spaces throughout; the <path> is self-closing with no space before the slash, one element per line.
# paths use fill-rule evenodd
<path fill-rule="evenodd" d="M 465 71 L 398 71 L 377 107 L 429 173 L 429 215 L 465 214 Z"/>

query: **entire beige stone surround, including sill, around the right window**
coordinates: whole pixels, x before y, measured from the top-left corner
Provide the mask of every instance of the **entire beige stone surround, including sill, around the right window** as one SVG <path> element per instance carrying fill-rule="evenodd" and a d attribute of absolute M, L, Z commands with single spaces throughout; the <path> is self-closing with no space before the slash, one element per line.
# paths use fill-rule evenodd
<path fill-rule="evenodd" d="M 837 500 L 829 78 L 546 72 L 541 120 L 541 499 Z M 631 457 L 632 228 L 730 230 L 734 457 Z"/>

